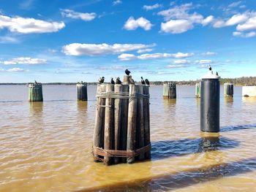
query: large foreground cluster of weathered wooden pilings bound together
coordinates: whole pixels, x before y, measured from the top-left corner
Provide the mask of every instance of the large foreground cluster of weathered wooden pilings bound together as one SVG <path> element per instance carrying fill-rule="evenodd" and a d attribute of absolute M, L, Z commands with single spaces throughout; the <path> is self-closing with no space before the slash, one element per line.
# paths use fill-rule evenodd
<path fill-rule="evenodd" d="M 128 77 L 97 85 L 93 153 L 106 165 L 151 158 L 149 86 L 129 84 Z"/>

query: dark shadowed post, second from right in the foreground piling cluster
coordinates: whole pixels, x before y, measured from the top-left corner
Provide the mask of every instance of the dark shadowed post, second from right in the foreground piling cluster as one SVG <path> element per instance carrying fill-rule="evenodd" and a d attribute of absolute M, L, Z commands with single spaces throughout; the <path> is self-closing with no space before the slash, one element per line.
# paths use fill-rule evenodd
<path fill-rule="evenodd" d="M 139 90 L 138 93 L 141 94 L 141 96 L 138 98 L 138 110 L 137 110 L 137 129 L 136 129 L 136 149 L 142 148 L 145 146 L 144 142 L 144 115 L 143 115 L 143 88 L 144 85 L 138 85 Z M 142 153 L 138 156 L 138 160 L 144 160 L 145 154 Z"/>

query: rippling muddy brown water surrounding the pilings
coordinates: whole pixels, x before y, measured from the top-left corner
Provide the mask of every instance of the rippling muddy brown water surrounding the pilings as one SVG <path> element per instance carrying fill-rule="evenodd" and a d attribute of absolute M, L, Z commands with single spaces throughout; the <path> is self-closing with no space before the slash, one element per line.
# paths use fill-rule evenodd
<path fill-rule="evenodd" d="M 176 100 L 151 86 L 151 161 L 105 166 L 91 155 L 96 87 L 43 86 L 29 103 L 23 85 L 0 86 L 0 191 L 255 191 L 256 98 L 221 88 L 221 131 L 200 132 L 194 86 Z"/>

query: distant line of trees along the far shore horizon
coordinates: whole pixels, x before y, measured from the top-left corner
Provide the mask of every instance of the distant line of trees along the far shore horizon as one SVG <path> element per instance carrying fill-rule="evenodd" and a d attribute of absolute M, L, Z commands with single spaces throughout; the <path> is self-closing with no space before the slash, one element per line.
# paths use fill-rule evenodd
<path fill-rule="evenodd" d="M 221 78 L 221 84 L 225 82 L 232 82 L 234 85 L 247 85 L 247 86 L 255 86 L 256 85 L 256 77 L 238 77 L 238 78 Z M 152 81 L 151 85 L 162 85 L 164 82 L 168 81 Z M 196 82 L 200 82 L 200 80 L 188 80 L 188 81 L 174 81 L 177 85 L 195 85 Z M 42 85 L 76 85 L 77 82 L 47 82 L 42 83 Z M 3 82 L 0 85 L 27 85 L 28 83 L 12 83 L 12 82 Z M 88 85 L 97 85 L 97 82 L 88 82 Z"/>

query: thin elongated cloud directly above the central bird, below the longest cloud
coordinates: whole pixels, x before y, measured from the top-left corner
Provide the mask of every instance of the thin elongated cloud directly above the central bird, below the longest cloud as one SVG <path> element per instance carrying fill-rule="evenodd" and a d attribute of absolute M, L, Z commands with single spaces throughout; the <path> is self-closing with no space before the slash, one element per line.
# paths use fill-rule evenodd
<path fill-rule="evenodd" d="M 133 55 L 133 54 L 121 54 L 118 58 L 121 61 L 129 61 L 132 59 L 140 59 L 140 60 L 151 60 L 157 58 L 187 58 L 194 55 L 194 53 L 147 53 L 142 55 Z"/>

